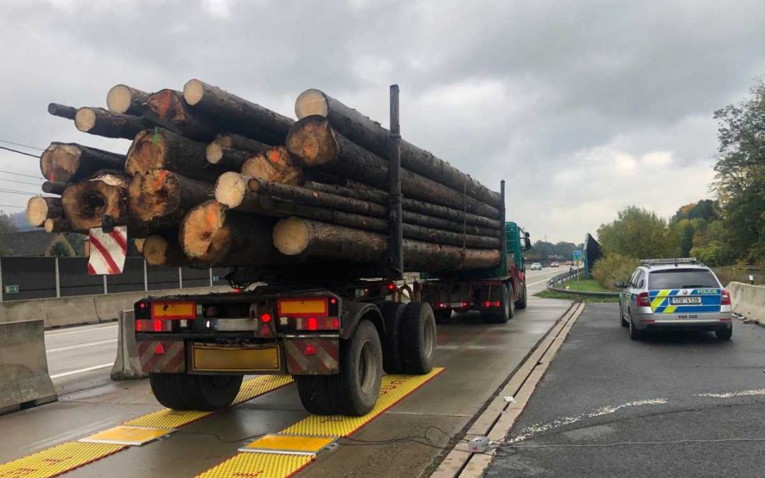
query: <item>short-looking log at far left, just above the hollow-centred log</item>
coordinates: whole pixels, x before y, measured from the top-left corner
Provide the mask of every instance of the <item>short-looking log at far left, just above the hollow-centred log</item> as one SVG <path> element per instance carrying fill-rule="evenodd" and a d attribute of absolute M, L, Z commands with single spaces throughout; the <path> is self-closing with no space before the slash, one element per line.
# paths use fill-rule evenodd
<path fill-rule="evenodd" d="M 124 167 L 125 154 L 76 143 L 50 143 L 40 156 L 40 171 L 50 181 L 75 182 L 103 169 L 122 170 Z"/>

